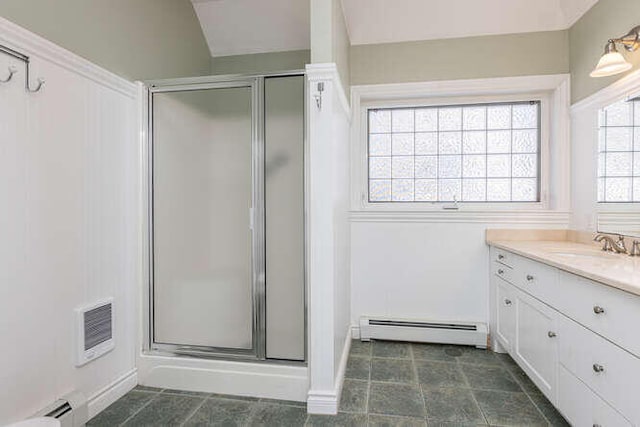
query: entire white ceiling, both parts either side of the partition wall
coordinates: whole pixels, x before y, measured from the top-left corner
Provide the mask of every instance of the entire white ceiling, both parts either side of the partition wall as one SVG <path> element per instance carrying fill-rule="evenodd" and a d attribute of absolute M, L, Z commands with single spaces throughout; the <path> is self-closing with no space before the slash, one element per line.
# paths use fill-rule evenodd
<path fill-rule="evenodd" d="M 191 0 L 212 56 L 309 49 L 309 0 Z M 342 0 L 351 44 L 569 28 L 598 0 Z"/>

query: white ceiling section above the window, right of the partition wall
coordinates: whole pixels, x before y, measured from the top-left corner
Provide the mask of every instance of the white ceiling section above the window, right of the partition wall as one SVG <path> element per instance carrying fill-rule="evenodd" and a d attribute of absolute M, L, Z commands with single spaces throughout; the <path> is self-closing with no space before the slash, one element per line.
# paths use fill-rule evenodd
<path fill-rule="evenodd" d="M 351 44 L 569 28 L 598 0 L 342 0 Z"/>

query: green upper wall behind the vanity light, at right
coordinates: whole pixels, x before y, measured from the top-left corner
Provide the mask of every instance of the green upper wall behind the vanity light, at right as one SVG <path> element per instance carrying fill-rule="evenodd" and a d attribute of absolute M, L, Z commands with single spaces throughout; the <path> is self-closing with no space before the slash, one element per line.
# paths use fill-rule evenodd
<path fill-rule="evenodd" d="M 639 0 L 600 0 L 571 27 L 569 47 L 573 102 L 586 98 L 625 75 L 592 78 L 589 73 L 598 63 L 607 40 L 622 36 L 636 25 L 640 25 Z M 640 51 L 624 55 L 634 64 L 630 72 L 638 70 Z"/>

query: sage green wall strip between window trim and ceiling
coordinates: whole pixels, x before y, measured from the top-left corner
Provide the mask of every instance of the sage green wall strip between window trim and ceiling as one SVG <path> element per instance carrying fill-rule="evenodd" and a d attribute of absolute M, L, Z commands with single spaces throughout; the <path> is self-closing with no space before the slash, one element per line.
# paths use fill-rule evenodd
<path fill-rule="evenodd" d="M 353 85 L 559 74 L 569 72 L 569 34 L 356 45 L 350 56 Z"/>

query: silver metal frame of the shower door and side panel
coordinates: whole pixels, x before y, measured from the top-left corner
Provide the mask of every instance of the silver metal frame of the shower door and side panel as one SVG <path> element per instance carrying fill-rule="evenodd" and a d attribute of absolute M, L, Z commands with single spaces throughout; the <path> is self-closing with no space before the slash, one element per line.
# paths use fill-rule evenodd
<path fill-rule="evenodd" d="M 265 74 L 234 74 L 221 76 L 202 76 L 165 80 L 150 80 L 143 83 L 142 107 L 143 188 L 146 192 L 144 204 L 146 210 L 145 271 L 146 286 L 143 289 L 143 352 L 146 354 L 198 357 L 227 360 L 246 360 L 267 363 L 307 364 L 308 328 L 307 328 L 307 206 L 308 206 L 308 138 L 307 138 L 307 84 L 304 83 L 304 138 L 303 138 L 303 187 L 304 187 L 304 361 L 278 360 L 266 358 L 266 254 L 265 254 L 265 98 L 264 80 L 268 77 L 305 76 L 304 70 L 293 70 Z M 167 92 L 198 91 L 225 88 L 251 89 L 251 165 L 252 165 L 252 348 L 224 348 L 211 346 L 193 346 L 158 343 L 154 340 L 154 222 L 153 222 L 153 95 Z"/>

